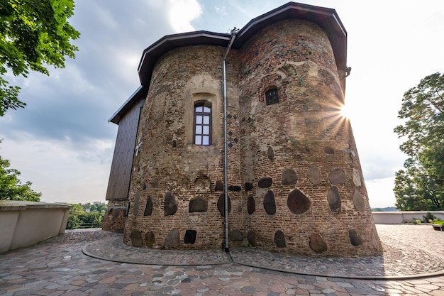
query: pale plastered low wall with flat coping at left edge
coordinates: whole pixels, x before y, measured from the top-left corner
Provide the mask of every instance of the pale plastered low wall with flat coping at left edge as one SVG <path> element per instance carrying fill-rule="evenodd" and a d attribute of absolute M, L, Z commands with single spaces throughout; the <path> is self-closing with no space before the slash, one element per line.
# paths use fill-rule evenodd
<path fill-rule="evenodd" d="M 63 234 L 69 204 L 0 200 L 0 253 Z"/>

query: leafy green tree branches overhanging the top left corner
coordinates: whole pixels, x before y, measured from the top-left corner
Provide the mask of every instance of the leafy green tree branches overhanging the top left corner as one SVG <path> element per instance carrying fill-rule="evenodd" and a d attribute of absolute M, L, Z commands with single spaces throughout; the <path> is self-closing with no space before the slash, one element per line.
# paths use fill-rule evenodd
<path fill-rule="evenodd" d="M 80 34 L 67 21 L 73 13 L 73 0 L 0 1 L 0 116 L 26 105 L 18 99 L 20 88 L 5 79 L 9 71 L 49 75 L 47 66 L 65 67 L 65 56 L 74 58 L 70 41 Z"/>

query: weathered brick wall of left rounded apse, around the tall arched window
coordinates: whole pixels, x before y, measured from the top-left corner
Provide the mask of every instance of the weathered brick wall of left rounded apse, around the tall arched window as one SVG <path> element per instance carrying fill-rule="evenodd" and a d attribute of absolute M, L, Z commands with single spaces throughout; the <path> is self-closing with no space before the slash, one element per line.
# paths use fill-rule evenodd
<path fill-rule="evenodd" d="M 178 48 L 155 65 L 138 131 L 140 148 L 133 164 L 126 243 L 152 248 L 221 246 L 223 191 L 216 181 L 223 180 L 224 53 L 225 48 L 215 46 Z M 236 68 L 229 67 L 227 76 L 231 77 L 228 125 L 233 135 L 229 161 L 239 163 Z M 194 102 L 201 100 L 211 102 L 213 111 L 211 146 L 192 144 Z M 228 181 L 238 185 L 240 169 L 235 170 Z M 240 197 L 233 192 L 231 202 Z"/>

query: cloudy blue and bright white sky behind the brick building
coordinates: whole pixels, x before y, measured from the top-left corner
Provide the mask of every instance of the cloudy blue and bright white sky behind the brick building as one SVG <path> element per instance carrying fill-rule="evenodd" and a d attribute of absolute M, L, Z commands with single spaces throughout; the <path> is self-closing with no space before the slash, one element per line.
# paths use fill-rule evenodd
<path fill-rule="evenodd" d="M 75 0 L 79 51 L 50 76 L 8 76 L 25 109 L 0 117 L 0 155 L 43 202 L 105 202 L 118 126 L 113 113 L 140 85 L 145 48 L 164 35 L 228 33 L 288 1 Z M 335 9 L 348 31 L 345 104 L 371 207 L 392 207 L 402 168 L 393 128 L 404 92 L 444 71 L 444 1 L 313 0 Z"/>

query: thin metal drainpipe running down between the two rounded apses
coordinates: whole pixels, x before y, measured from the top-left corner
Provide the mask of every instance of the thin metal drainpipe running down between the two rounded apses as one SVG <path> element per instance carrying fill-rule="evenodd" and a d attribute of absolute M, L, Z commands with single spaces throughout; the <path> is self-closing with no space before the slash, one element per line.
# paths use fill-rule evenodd
<path fill-rule="evenodd" d="M 231 45 L 233 45 L 234 39 L 238 33 L 238 28 L 234 27 L 231 30 L 231 39 L 228 43 L 228 47 L 222 60 L 223 70 L 223 209 L 225 218 L 225 251 L 229 252 L 228 246 L 228 157 L 227 157 L 227 86 L 226 86 L 226 69 L 225 59 L 230 51 Z"/>

